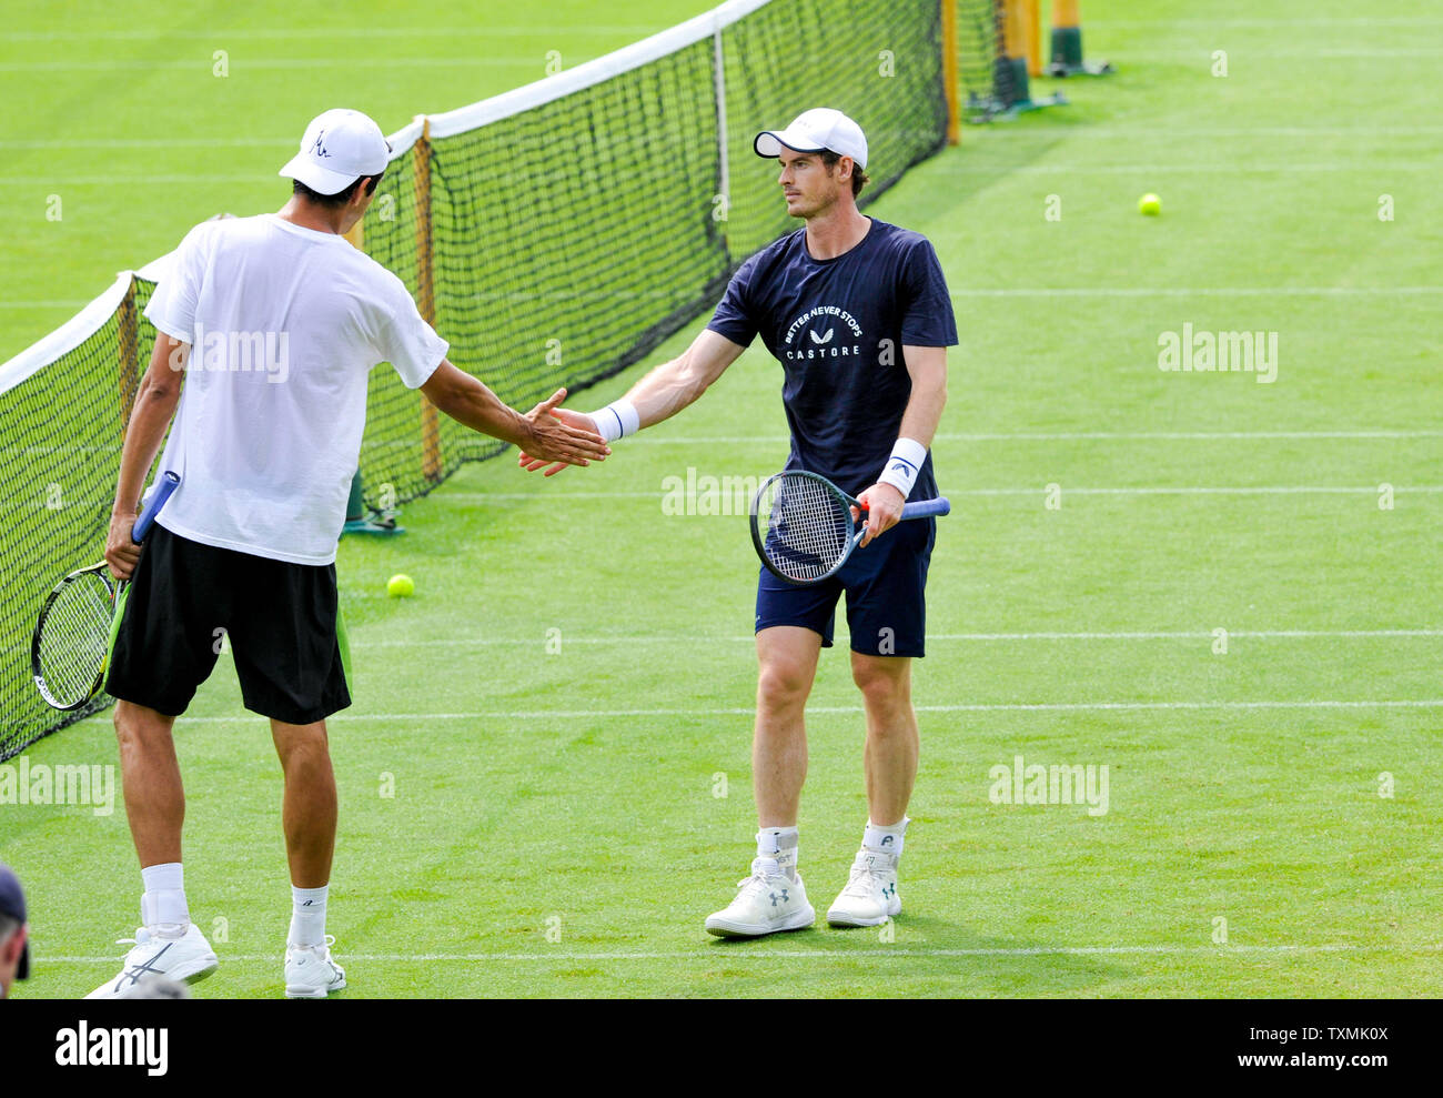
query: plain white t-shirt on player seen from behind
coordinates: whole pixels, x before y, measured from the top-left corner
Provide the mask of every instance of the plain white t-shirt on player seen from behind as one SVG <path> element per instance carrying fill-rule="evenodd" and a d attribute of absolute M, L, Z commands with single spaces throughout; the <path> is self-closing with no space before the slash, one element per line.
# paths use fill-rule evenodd
<path fill-rule="evenodd" d="M 206 545 L 330 564 L 365 430 L 367 377 L 423 385 L 447 343 L 405 286 L 332 232 L 274 214 L 196 225 L 146 306 L 190 343 L 157 521 Z"/>

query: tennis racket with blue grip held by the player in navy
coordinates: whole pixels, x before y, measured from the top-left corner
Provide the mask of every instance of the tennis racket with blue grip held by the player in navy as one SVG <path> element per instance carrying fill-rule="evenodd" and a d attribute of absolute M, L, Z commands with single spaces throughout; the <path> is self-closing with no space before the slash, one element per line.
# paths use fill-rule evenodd
<path fill-rule="evenodd" d="M 802 469 L 769 476 L 752 496 L 756 555 L 779 580 L 821 583 L 837 574 L 867 532 L 867 524 L 854 519 L 851 508 L 866 515 L 864 504 L 825 476 Z M 902 518 L 947 515 L 951 509 L 944 496 L 919 499 L 902 508 Z"/>

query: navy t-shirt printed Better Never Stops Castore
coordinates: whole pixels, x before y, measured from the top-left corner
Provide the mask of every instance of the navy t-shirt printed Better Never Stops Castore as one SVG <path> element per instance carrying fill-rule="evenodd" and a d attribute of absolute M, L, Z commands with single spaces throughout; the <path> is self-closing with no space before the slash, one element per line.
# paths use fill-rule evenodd
<path fill-rule="evenodd" d="M 762 336 L 785 371 L 786 467 L 821 473 L 851 495 L 877 482 L 898 440 L 912 395 L 902 348 L 957 343 L 931 242 L 876 218 L 833 260 L 811 257 L 807 229 L 769 244 L 732 276 L 707 328 L 742 346 Z M 935 495 L 928 453 L 911 498 Z"/>

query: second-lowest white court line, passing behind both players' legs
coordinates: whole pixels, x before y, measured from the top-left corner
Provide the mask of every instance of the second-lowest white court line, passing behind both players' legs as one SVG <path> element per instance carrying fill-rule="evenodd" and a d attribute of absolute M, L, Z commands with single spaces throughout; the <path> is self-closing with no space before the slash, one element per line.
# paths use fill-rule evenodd
<path fill-rule="evenodd" d="M 1377 701 L 1038 701 L 978 703 L 974 706 L 915 706 L 918 713 L 1076 713 L 1140 710 L 1280 710 L 1280 708 L 1443 708 L 1443 698 L 1387 698 Z M 472 710 L 469 713 L 336 713 L 328 721 L 398 721 L 398 720 L 586 720 L 590 717 L 750 717 L 753 707 L 717 708 L 612 708 L 612 710 Z M 861 706 L 808 706 L 808 714 L 861 713 Z M 188 724 L 238 724 L 260 721 L 255 714 L 231 717 L 180 717 Z"/>

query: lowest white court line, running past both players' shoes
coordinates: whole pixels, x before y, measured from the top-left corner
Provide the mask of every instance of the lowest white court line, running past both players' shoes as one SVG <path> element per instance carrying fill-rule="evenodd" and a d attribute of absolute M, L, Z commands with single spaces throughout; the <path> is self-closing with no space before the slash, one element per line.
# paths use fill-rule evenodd
<path fill-rule="evenodd" d="M 700 959 L 714 962 L 719 959 L 758 959 L 766 961 L 775 957 L 794 957 L 815 961 L 873 961 L 882 957 L 1127 957 L 1127 955 L 1186 955 L 1212 954 L 1227 957 L 1229 954 L 1431 954 L 1443 949 L 1443 945 L 1355 945 L 1352 942 L 1323 942 L 1317 945 L 1023 945 L 1023 947 L 977 947 L 961 949 L 915 949 L 898 948 L 892 945 L 876 945 L 864 949 L 746 949 L 739 945 L 707 944 L 696 949 L 661 951 L 597 951 L 576 952 L 558 949 L 556 952 L 506 952 L 506 954 L 349 954 L 345 949 L 336 952 L 341 961 L 377 961 L 377 962 L 423 962 L 423 961 L 456 961 L 456 962 L 488 962 L 488 961 L 691 961 Z M 38 964 L 115 964 L 115 955 L 110 957 L 45 957 L 36 954 Z M 221 954 L 221 964 L 277 964 L 277 954 Z"/>

